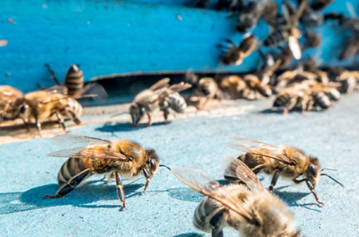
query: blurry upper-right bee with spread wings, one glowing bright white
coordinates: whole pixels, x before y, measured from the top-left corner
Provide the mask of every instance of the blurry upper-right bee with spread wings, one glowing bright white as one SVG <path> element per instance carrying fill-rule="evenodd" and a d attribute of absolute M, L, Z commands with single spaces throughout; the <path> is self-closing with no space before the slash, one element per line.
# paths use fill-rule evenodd
<path fill-rule="evenodd" d="M 300 59 L 301 50 L 298 39 L 302 36 L 302 33 L 297 28 L 297 25 L 300 16 L 303 14 L 303 10 L 306 8 L 306 1 L 302 1 L 298 9 L 294 9 L 294 6 L 288 1 L 284 1 L 282 6 L 287 24 L 275 27 L 264 40 L 264 45 L 272 47 L 288 41 L 290 51 L 292 51 L 294 58 Z"/>

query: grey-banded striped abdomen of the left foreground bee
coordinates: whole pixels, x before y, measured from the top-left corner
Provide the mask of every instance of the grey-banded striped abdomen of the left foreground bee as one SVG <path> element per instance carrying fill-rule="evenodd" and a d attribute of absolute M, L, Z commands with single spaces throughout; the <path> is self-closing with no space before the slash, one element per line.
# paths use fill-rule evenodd
<path fill-rule="evenodd" d="M 69 158 L 62 164 L 60 171 L 57 175 L 57 182 L 60 186 L 67 183 L 71 178 L 86 169 L 80 159 Z"/>

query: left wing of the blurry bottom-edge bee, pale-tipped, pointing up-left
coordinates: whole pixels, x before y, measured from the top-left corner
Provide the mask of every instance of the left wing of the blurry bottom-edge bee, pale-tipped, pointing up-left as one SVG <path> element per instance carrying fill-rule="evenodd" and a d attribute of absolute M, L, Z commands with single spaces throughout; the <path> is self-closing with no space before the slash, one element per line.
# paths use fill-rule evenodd
<path fill-rule="evenodd" d="M 214 178 L 205 175 L 201 170 L 177 166 L 173 167 L 171 171 L 174 176 L 192 189 L 222 203 L 248 221 L 253 219 L 251 214 L 240 204 L 236 196 L 233 196 L 225 186 L 221 185 Z"/>

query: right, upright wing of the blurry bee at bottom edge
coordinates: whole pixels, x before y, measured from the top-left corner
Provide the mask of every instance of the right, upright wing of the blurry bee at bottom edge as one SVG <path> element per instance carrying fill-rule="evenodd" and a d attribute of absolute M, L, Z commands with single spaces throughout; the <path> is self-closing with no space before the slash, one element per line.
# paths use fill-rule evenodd
<path fill-rule="evenodd" d="M 267 192 L 267 189 L 262 185 L 256 174 L 240 159 L 231 156 L 226 156 L 226 158 L 231 161 L 226 168 L 226 175 L 239 178 L 252 191 Z"/>

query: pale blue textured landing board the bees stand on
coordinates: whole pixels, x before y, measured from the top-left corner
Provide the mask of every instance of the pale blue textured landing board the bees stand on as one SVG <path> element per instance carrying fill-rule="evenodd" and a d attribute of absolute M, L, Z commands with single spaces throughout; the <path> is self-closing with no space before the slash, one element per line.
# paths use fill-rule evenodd
<path fill-rule="evenodd" d="M 154 148 L 168 166 L 202 169 L 223 179 L 224 155 L 239 152 L 225 145 L 229 136 L 243 136 L 273 145 L 291 145 L 317 156 L 322 167 L 345 185 L 343 189 L 322 177 L 316 191 L 325 203 L 320 208 L 307 186 L 279 179 L 275 194 L 294 213 L 304 236 L 359 235 L 359 94 L 343 96 L 326 112 L 262 112 L 269 101 L 254 104 L 247 113 L 227 117 L 195 117 L 170 124 L 134 129 L 129 122 L 95 124 L 70 129 L 71 133 L 103 139 L 130 139 Z M 167 169 L 141 195 L 145 179 L 124 181 L 128 210 L 120 212 L 115 183 L 94 182 L 94 176 L 65 198 L 54 194 L 57 172 L 66 158 L 47 157 L 61 147 L 50 139 L 34 139 L 0 146 L 0 236 L 201 236 L 192 215 L 202 196 L 178 181 Z M 270 177 L 263 178 L 269 186 Z M 93 182 L 91 182 L 93 181 Z M 206 236 L 210 236 L 209 234 Z M 226 229 L 225 236 L 238 236 Z"/>

